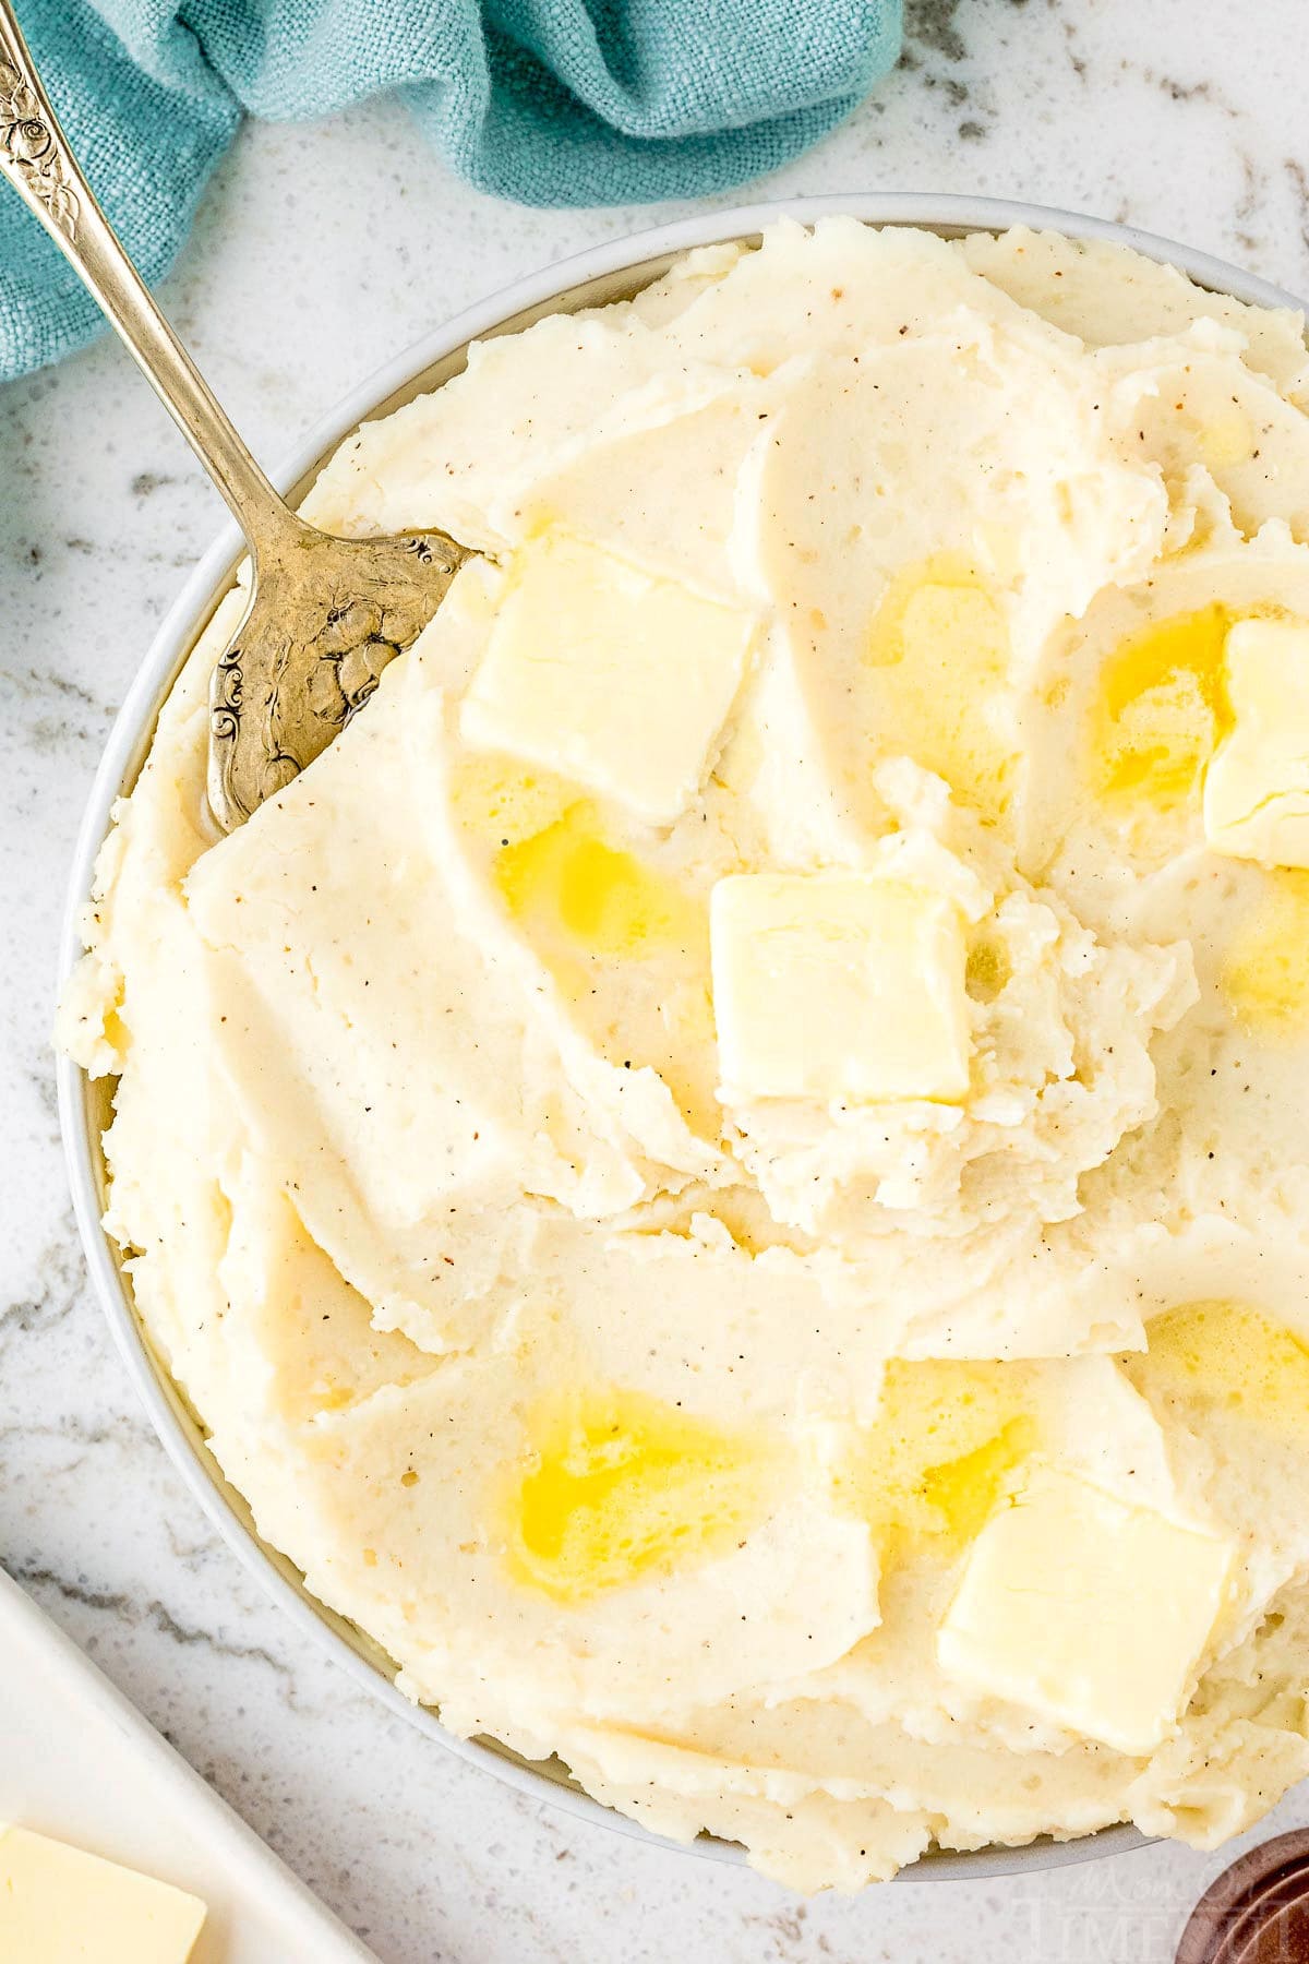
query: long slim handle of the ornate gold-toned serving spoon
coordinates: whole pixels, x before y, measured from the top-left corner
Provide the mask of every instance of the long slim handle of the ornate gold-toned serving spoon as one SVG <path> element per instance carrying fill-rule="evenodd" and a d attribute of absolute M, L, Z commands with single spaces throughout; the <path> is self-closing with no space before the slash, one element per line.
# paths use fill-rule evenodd
<path fill-rule="evenodd" d="M 12 0 L 0 0 L 0 173 L 35 212 L 232 507 L 255 560 L 296 528 L 96 204 L 41 86 Z"/>

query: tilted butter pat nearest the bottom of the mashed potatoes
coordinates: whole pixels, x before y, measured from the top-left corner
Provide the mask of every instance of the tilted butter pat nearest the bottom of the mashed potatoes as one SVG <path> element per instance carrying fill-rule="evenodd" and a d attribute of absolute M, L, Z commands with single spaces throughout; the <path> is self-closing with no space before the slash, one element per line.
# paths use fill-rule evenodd
<path fill-rule="evenodd" d="M 977 1691 L 1126 1754 L 1166 1738 L 1223 1607 L 1234 1548 L 1036 1467 L 973 1542 L 936 1638 Z"/>

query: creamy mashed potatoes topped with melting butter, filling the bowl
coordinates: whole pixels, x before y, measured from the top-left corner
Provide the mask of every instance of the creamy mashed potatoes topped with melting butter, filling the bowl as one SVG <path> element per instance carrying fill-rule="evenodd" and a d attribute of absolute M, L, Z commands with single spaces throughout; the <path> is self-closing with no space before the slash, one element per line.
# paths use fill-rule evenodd
<path fill-rule="evenodd" d="M 1307 405 L 1130 251 L 779 226 L 340 450 L 483 558 L 214 843 L 220 607 L 63 1041 L 453 1730 L 805 1889 L 1309 1772 Z"/>

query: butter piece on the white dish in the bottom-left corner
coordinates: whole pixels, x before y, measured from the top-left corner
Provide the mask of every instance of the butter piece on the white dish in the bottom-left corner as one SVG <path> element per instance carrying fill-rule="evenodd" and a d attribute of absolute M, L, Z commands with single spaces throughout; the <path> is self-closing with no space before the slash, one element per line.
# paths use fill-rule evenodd
<path fill-rule="evenodd" d="M 0 1958 L 186 1964 L 204 1903 L 96 1854 L 0 1828 Z"/>

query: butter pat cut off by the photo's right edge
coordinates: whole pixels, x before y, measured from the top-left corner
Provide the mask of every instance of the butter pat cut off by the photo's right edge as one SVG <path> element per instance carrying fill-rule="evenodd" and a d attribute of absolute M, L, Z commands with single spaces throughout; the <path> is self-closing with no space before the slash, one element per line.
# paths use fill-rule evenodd
<path fill-rule="evenodd" d="M 1225 642 L 1232 729 L 1205 776 L 1215 852 L 1309 866 L 1309 623 L 1238 621 Z"/>

